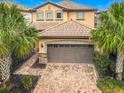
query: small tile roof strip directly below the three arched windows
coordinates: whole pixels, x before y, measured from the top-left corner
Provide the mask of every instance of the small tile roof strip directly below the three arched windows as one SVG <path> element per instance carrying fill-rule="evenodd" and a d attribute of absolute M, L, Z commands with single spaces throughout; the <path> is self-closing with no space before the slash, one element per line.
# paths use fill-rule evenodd
<path fill-rule="evenodd" d="M 37 30 L 45 30 L 62 22 L 33 22 L 31 25 Z"/>

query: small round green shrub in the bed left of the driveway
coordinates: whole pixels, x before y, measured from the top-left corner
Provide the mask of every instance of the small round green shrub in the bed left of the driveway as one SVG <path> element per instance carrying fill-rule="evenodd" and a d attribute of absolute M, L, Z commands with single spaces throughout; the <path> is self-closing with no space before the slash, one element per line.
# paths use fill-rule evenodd
<path fill-rule="evenodd" d="M 32 86 L 32 77 L 31 76 L 22 76 L 21 83 L 24 88 L 29 89 Z"/>

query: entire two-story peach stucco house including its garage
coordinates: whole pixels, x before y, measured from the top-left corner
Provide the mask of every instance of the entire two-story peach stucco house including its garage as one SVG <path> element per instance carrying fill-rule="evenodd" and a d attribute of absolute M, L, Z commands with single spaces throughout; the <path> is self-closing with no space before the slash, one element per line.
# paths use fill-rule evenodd
<path fill-rule="evenodd" d="M 96 11 L 71 0 L 46 2 L 28 9 L 26 15 L 31 14 L 31 24 L 39 30 L 39 62 L 91 63 L 94 44 L 90 32 Z"/>

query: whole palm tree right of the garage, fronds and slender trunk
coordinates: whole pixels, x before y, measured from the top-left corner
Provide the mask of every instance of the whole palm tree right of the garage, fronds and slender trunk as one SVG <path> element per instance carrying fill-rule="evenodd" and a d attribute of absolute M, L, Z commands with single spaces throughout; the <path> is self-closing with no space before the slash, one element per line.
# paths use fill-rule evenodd
<path fill-rule="evenodd" d="M 122 80 L 124 61 L 124 3 L 114 2 L 99 16 L 100 26 L 92 31 L 92 39 L 104 52 L 117 52 L 117 80 Z"/>

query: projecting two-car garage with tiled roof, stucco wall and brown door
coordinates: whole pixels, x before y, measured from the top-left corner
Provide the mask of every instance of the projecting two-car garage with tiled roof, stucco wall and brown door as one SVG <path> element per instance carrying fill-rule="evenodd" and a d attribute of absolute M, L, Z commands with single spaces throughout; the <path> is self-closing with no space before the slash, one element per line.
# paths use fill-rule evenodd
<path fill-rule="evenodd" d="M 48 28 L 39 33 L 39 59 L 47 63 L 92 63 L 92 28 L 74 20 Z"/>

